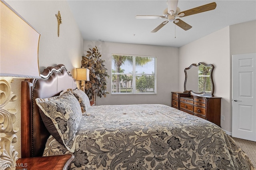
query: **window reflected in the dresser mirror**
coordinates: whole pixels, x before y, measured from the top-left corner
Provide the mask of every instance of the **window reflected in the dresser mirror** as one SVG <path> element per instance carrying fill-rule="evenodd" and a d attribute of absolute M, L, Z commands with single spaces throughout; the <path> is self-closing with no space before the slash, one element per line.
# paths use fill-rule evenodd
<path fill-rule="evenodd" d="M 212 83 L 210 80 L 210 72 L 212 67 L 200 64 L 198 67 L 198 91 L 212 92 Z"/>

